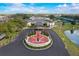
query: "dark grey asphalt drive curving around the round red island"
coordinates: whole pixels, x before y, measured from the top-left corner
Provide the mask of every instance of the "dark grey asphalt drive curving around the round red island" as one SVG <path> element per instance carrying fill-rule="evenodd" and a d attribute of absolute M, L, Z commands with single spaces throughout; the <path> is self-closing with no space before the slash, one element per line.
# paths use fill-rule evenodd
<path fill-rule="evenodd" d="M 50 29 L 46 30 L 50 33 L 54 41 L 50 48 L 41 51 L 34 51 L 25 48 L 22 43 L 23 39 L 25 39 L 26 35 L 31 31 L 33 30 L 23 30 L 13 42 L 0 48 L 0 56 L 69 56 L 64 43 L 61 41 L 59 36 Z"/>

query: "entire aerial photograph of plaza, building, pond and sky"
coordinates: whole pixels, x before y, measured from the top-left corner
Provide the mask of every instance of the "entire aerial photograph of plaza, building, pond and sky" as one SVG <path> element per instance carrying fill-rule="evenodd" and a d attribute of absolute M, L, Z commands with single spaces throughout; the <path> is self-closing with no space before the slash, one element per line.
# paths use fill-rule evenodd
<path fill-rule="evenodd" d="M 79 4 L 0 3 L 0 56 L 79 56 Z"/>

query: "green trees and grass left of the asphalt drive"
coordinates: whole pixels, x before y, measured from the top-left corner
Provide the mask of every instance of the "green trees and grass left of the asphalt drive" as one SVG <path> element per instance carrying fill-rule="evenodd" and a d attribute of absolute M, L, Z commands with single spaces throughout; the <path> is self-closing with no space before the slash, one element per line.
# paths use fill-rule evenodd
<path fill-rule="evenodd" d="M 6 37 L 0 41 L 0 47 L 13 41 L 18 33 L 23 30 L 23 27 L 26 27 L 26 22 L 20 19 L 13 19 L 5 23 L 0 23 L 0 32 L 6 34 Z"/>

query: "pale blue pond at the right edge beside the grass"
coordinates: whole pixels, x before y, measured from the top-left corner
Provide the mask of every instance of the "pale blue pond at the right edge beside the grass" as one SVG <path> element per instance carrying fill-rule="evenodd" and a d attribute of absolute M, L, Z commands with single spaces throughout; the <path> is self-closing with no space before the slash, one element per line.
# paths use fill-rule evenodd
<path fill-rule="evenodd" d="M 79 30 L 67 30 L 64 33 L 73 43 L 79 46 Z"/>

